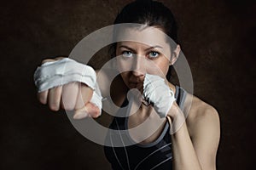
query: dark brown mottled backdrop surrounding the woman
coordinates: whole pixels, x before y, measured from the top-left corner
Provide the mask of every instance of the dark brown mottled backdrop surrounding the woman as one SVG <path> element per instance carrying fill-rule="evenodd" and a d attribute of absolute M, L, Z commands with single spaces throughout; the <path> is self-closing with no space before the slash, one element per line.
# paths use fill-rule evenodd
<path fill-rule="evenodd" d="M 84 139 L 63 111 L 54 113 L 38 104 L 32 75 L 42 59 L 69 54 L 90 32 L 111 25 L 129 2 L 1 2 L 0 169 L 110 169 L 102 146 Z M 195 95 L 218 110 L 218 169 L 252 169 L 255 1 L 162 2 L 177 18 Z"/>

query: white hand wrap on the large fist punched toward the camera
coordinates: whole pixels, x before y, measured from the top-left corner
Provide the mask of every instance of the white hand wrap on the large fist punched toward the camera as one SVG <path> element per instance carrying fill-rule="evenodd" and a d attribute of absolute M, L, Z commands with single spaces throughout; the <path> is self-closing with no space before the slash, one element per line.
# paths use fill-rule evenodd
<path fill-rule="evenodd" d="M 83 82 L 94 90 L 90 102 L 102 110 L 102 94 L 96 82 L 96 72 L 89 65 L 69 58 L 46 62 L 38 66 L 34 73 L 34 82 L 38 92 L 69 82 Z"/>

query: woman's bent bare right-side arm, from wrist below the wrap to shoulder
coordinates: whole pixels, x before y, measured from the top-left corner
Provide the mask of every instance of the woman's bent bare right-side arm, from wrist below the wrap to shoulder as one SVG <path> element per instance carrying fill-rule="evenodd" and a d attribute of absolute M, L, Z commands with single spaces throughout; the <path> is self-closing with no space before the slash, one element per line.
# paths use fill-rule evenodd
<path fill-rule="evenodd" d="M 168 115 L 171 116 L 172 122 L 174 120 L 172 150 L 175 170 L 216 169 L 215 160 L 220 135 L 218 112 L 210 105 L 196 108 L 192 110 L 195 113 L 189 115 L 187 120 L 176 103 L 169 111 Z M 169 122 L 171 120 L 169 118 Z"/>

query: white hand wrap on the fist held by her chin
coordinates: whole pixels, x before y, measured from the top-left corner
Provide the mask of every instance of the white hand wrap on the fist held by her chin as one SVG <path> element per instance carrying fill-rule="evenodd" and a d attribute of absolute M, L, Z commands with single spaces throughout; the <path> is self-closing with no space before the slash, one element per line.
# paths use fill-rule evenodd
<path fill-rule="evenodd" d="M 160 117 L 167 116 L 176 100 L 174 93 L 166 85 L 165 79 L 149 74 L 146 74 L 143 82 L 143 99 L 154 105 L 154 110 Z"/>

